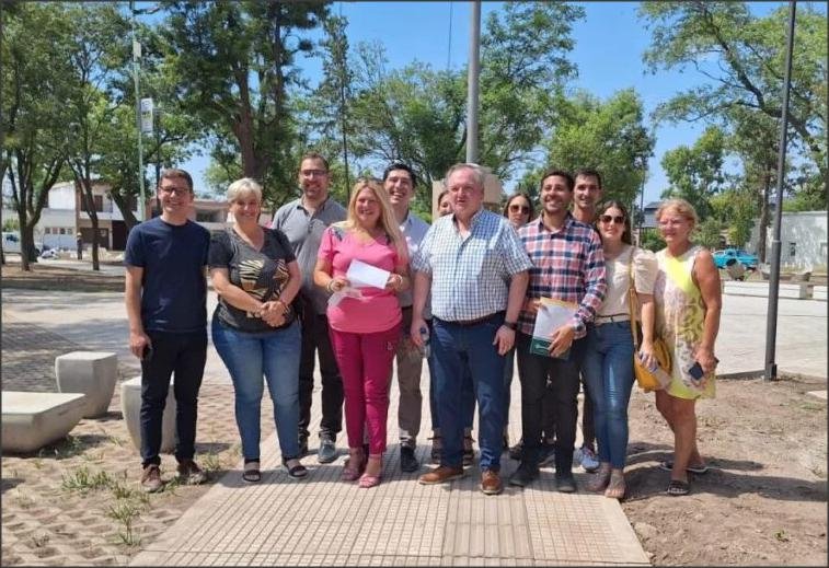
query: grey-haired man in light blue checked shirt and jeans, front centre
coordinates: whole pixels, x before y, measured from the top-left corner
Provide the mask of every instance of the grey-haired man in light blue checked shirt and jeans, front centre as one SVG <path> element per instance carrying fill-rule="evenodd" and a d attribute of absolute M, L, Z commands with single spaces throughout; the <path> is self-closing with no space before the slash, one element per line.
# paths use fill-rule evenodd
<path fill-rule="evenodd" d="M 504 429 L 504 355 L 515 345 L 518 313 L 532 266 L 513 227 L 483 209 L 484 172 L 456 164 L 446 175 L 453 213 L 435 221 L 412 260 L 411 334 L 422 345 L 423 311 L 431 292 L 431 352 L 444 438 L 440 466 L 419 482 L 464 475 L 462 376 L 472 376 L 479 405 L 481 490 L 497 495 Z"/>

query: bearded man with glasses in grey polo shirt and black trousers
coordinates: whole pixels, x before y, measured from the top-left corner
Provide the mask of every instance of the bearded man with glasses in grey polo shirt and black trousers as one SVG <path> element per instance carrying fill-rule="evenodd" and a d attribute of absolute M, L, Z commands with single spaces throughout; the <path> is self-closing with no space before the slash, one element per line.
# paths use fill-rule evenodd
<path fill-rule="evenodd" d="M 325 316 L 329 293 L 313 283 L 313 268 L 322 232 L 331 223 L 345 220 L 342 205 L 329 199 L 329 162 L 310 152 L 302 157 L 299 185 L 302 196 L 279 208 L 272 227 L 283 231 L 297 255 L 302 274 L 302 353 L 299 363 L 299 448 L 308 453 L 313 392 L 314 351 L 320 357 L 322 375 L 322 420 L 320 421 L 320 463 L 336 460 L 336 434 L 343 428 L 343 378 L 339 375 L 329 339 L 329 318 Z"/>

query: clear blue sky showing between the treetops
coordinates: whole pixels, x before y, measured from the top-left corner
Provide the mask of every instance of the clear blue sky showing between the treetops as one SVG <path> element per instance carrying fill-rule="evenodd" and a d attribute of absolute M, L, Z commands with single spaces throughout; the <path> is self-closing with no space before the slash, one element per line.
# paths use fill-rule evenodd
<path fill-rule="evenodd" d="M 752 2 L 751 10 L 765 15 L 783 2 Z M 450 5 L 451 4 L 451 5 Z M 649 74 L 642 62 L 642 54 L 649 44 L 649 33 L 636 16 L 638 2 L 584 2 L 586 18 L 574 26 L 575 48 L 569 58 L 578 67 L 578 78 L 571 83 L 602 98 L 615 91 L 634 86 L 649 113 L 675 93 L 698 84 L 702 76 L 694 71 L 659 71 Z M 483 2 L 482 28 L 487 13 L 498 10 L 500 2 Z M 332 12 L 348 20 L 348 40 L 378 40 L 385 46 L 389 68 L 400 68 L 413 60 L 445 69 L 465 65 L 469 53 L 471 2 L 334 2 Z M 450 19 L 451 15 L 451 19 Z M 450 36 L 451 26 L 451 36 Z M 481 62 L 482 66 L 486 61 Z M 321 62 L 307 59 L 306 76 L 315 82 Z M 656 200 L 667 186 L 659 162 L 667 150 L 692 144 L 704 126 L 698 124 L 660 125 L 656 134 L 654 157 L 649 162 L 645 184 L 645 202 Z M 197 188 L 207 166 L 207 158 L 196 158 L 183 164 L 194 174 Z M 505 189 L 511 188 L 505 183 Z"/>

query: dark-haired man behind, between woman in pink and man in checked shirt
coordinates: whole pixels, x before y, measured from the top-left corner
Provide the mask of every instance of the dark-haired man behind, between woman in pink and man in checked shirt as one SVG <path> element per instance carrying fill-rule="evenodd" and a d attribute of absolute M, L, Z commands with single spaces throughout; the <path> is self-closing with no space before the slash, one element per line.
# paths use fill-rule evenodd
<path fill-rule="evenodd" d="M 394 217 L 400 224 L 400 231 L 406 239 L 410 258 L 417 253 L 421 241 L 426 236 L 426 231 L 429 230 L 429 225 L 408 208 L 408 202 L 414 197 L 415 183 L 415 174 L 407 164 L 396 162 L 383 172 L 383 187 L 389 194 L 389 201 L 391 201 Z M 403 311 L 402 336 L 395 353 L 398 385 L 400 387 L 400 401 L 398 402 L 400 468 L 404 472 L 415 472 L 419 465 L 417 457 L 415 457 L 415 448 L 417 448 L 417 433 L 421 430 L 423 411 L 423 395 L 421 394 L 423 357 L 421 350 L 408 336 L 408 328 L 412 325 L 412 292 L 400 292 L 398 299 Z M 424 309 L 424 317 L 431 317 L 428 308 Z"/>

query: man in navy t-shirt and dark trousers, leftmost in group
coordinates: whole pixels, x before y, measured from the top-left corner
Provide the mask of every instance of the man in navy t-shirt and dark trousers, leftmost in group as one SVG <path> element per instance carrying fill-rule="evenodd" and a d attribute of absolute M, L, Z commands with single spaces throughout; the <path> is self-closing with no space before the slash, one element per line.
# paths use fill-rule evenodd
<path fill-rule="evenodd" d="M 161 483 L 161 418 L 175 373 L 175 459 L 179 477 L 206 479 L 193 461 L 198 389 L 207 359 L 207 251 L 210 233 L 191 221 L 193 178 L 184 170 L 161 174 L 161 217 L 133 228 L 124 263 L 129 349 L 141 360 L 141 487 Z"/>

